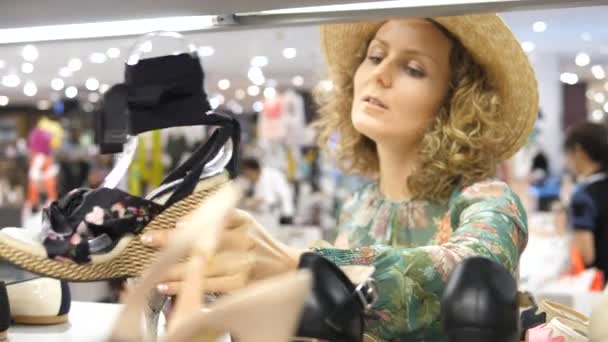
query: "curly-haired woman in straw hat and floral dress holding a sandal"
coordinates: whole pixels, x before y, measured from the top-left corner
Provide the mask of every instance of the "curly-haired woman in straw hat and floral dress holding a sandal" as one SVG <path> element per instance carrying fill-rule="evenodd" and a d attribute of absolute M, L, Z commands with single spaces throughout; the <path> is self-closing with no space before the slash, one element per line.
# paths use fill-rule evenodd
<path fill-rule="evenodd" d="M 314 250 L 338 265 L 375 266 L 380 300 L 367 320 L 371 335 L 439 340 L 440 297 L 455 265 L 485 256 L 513 272 L 526 245 L 519 199 L 489 178 L 531 132 L 532 69 L 491 14 L 330 25 L 322 42 L 335 86 L 322 101 L 321 144 L 338 133 L 338 160 L 376 181 L 345 204 L 335 247 Z M 248 215 L 231 221 L 209 289 L 296 267 L 303 251 L 282 246 L 289 257 L 273 257 L 250 238 L 265 233 Z M 176 270 L 159 289 L 175 293 L 179 279 Z"/>

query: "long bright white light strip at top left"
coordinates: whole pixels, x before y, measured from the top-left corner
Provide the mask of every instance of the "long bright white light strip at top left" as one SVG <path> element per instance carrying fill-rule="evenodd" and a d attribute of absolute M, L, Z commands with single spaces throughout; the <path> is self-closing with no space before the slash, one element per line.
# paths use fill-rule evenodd
<path fill-rule="evenodd" d="M 0 29 L 0 44 L 142 35 L 153 31 L 185 32 L 212 27 L 217 16 L 165 17 L 87 24 Z"/>

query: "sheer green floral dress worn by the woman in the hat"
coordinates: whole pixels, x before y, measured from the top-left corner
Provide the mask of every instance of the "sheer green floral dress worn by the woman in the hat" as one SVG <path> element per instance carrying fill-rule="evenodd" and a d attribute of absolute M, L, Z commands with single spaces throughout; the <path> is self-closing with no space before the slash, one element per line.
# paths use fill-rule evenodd
<path fill-rule="evenodd" d="M 368 334 L 443 341 L 440 299 L 452 269 L 485 256 L 515 272 L 527 235 L 525 210 L 503 182 L 458 189 L 443 203 L 390 201 L 372 183 L 344 204 L 335 247 L 315 251 L 338 265 L 375 266 L 380 298 Z"/>

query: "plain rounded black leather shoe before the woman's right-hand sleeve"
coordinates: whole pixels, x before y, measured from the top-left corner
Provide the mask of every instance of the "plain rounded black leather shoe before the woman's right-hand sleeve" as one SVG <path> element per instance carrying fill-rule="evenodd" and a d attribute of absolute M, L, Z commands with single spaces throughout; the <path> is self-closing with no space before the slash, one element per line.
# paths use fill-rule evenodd
<path fill-rule="evenodd" d="M 517 342 L 517 284 L 501 265 L 481 257 L 452 272 L 441 301 L 449 342 Z"/>

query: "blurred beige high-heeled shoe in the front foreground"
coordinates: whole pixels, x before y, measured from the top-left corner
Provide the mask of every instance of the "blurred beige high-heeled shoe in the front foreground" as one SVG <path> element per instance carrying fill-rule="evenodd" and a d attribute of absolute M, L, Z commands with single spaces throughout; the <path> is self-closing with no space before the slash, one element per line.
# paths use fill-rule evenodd
<path fill-rule="evenodd" d="M 236 191 L 226 186 L 209 197 L 176 229 L 175 237 L 126 299 L 111 341 L 154 340 L 140 329 L 147 295 L 172 264 L 189 252 L 187 279 L 178 295 L 172 320 L 161 341 L 214 342 L 224 333 L 242 342 L 285 342 L 293 335 L 304 300 L 312 286 L 308 271 L 264 280 L 219 299 L 201 310 L 201 279 L 217 247 L 224 219 L 236 204 Z"/>

